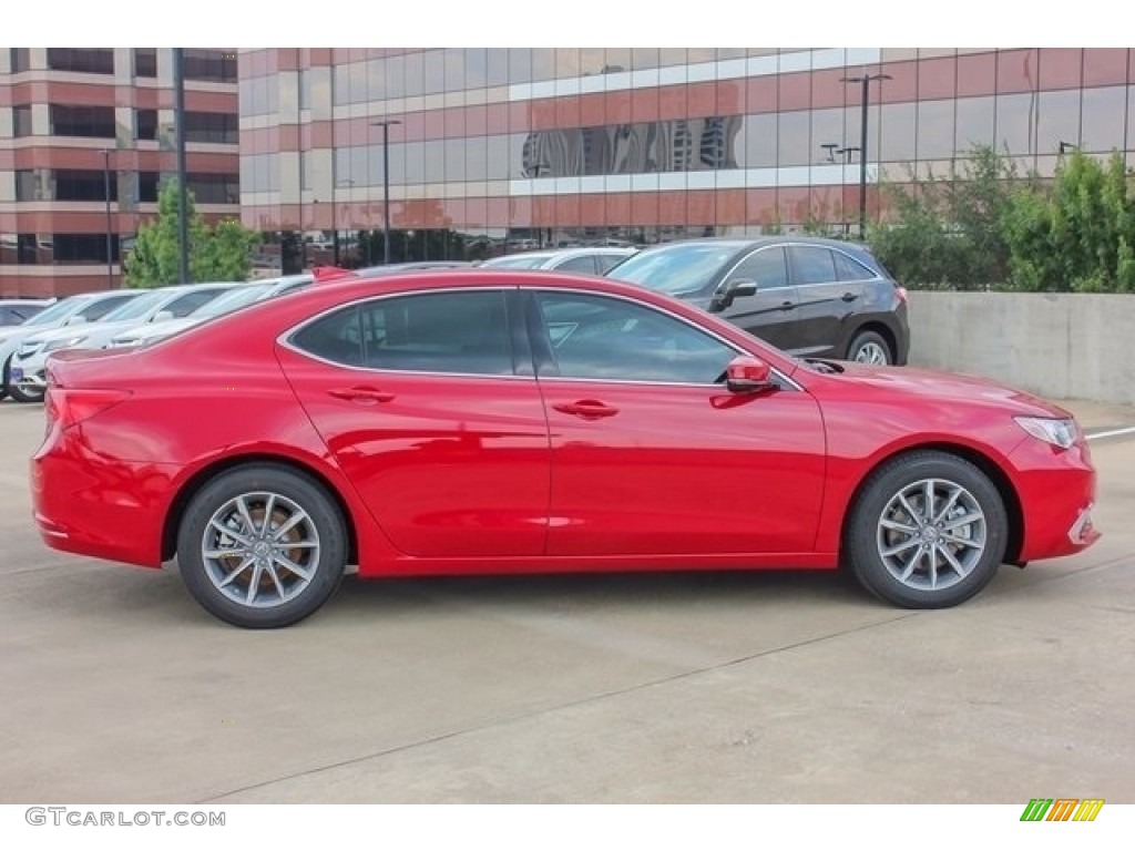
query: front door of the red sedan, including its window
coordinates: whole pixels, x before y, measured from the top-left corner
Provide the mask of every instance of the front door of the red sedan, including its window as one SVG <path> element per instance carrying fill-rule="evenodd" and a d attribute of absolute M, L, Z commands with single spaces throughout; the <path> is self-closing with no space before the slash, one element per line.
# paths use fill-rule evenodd
<path fill-rule="evenodd" d="M 810 396 L 787 384 L 730 393 L 720 379 L 737 349 L 659 310 L 582 293 L 535 300 L 548 349 L 549 555 L 812 550 L 824 431 Z"/>

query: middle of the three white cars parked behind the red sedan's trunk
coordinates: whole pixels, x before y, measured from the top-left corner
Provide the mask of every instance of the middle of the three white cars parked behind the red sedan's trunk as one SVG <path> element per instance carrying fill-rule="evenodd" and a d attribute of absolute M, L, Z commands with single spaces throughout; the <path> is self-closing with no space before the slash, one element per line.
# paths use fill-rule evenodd
<path fill-rule="evenodd" d="M 167 322 L 186 317 L 233 287 L 233 281 L 184 284 L 143 290 L 128 304 L 107 313 L 98 322 L 60 328 L 27 337 L 11 359 L 8 393 L 17 402 L 41 402 L 47 390 L 44 365 L 52 352 L 68 348 L 104 348 L 116 335 L 150 322 Z"/>

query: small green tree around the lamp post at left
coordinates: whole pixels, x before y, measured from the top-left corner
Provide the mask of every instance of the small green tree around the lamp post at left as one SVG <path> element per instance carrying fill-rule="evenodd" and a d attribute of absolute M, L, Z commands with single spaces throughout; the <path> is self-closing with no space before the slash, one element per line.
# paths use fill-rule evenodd
<path fill-rule="evenodd" d="M 131 287 L 161 287 L 180 280 L 177 228 L 177 182 L 169 180 L 158 195 L 158 218 L 138 228 L 134 250 L 124 269 Z M 193 280 L 244 280 L 252 270 L 252 252 L 260 234 L 235 220 L 210 227 L 186 192 L 190 277 Z"/>

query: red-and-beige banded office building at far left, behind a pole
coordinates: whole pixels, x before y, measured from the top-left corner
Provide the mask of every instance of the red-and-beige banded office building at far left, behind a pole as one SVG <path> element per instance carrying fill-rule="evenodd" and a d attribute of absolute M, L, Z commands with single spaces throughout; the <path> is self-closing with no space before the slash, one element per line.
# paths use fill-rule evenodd
<path fill-rule="evenodd" d="M 119 286 L 119 255 L 176 174 L 173 52 L 0 49 L 0 295 Z M 187 183 L 207 220 L 239 214 L 236 64 L 234 49 L 185 50 Z"/>

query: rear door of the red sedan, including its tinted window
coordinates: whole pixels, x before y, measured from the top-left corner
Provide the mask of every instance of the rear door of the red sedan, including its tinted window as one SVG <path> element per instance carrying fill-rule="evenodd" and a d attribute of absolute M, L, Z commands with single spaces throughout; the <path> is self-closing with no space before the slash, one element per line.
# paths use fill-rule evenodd
<path fill-rule="evenodd" d="M 544 553 L 548 428 L 514 292 L 372 298 L 309 322 L 279 351 L 316 429 L 402 553 Z"/>

